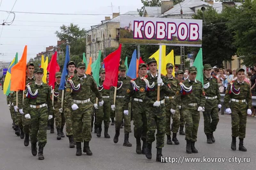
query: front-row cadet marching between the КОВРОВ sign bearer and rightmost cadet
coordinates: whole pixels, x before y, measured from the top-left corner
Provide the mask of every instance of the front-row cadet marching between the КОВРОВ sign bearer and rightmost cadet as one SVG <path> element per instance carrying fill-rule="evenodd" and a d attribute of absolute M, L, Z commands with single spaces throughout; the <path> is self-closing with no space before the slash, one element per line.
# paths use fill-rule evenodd
<path fill-rule="evenodd" d="M 180 83 L 174 103 L 181 101 L 181 109 L 184 113 L 186 122 L 185 140 L 187 141 L 186 152 L 198 153 L 197 149 L 195 148 L 195 142 L 197 139 L 200 112 L 203 112 L 205 103 L 205 93 L 202 83 L 196 80 L 196 67 L 189 67 L 188 71 L 189 77 Z M 175 104 L 173 105 L 172 109 L 176 109 Z"/>

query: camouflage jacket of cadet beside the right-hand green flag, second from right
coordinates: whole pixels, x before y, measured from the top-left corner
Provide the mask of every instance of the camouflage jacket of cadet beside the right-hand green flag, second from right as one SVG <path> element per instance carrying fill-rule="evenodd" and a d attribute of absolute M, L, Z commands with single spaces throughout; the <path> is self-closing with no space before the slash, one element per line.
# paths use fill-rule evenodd
<path fill-rule="evenodd" d="M 218 104 L 220 104 L 220 91 L 218 86 L 218 80 L 215 76 L 211 76 L 211 78 L 207 78 L 204 75 L 204 92 L 207 97 L 217 96 Z M 211 102 L 211 100 L 205 100 Z"/>

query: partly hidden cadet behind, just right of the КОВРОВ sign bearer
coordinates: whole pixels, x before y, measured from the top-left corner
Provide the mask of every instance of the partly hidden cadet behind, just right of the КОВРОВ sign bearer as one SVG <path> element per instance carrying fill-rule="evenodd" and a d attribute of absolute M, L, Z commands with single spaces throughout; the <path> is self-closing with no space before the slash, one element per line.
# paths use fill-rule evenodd
<path fill-rule="evenodd" d="M 166 83 L 167 86 L 172 90 L 172 92 L 176 92 L 178 88 L 178 80 L 177 78 L 172 76 L 172 71 L 173 71 L 173 64 L 172 63 L 167 63 L 166 64 Z M 165 133 L 167 136 L 167 144 L 172 144 L 172 141 L 174 144 L 180 144 L 180 142 L 177 139 L 177 132 L 180 127 L 180 109 L 179 106 L 176 106 L 176 112 L 174 114 L 171 113 L 171 108 L 174 100 L 174 95 L 171 96 L 164 96 L 164 105 L 165 107 L 165 113 L 166 113 L 166 127 L 165 127 Z M 172 140 L 171 140 L 171 117 L 172 117 Z"/>

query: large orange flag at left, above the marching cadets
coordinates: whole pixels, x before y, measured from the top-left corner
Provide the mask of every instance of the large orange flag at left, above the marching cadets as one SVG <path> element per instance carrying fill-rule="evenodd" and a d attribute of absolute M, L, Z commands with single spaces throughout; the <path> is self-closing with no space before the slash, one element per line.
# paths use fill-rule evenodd
<path fill-rule="evenodd" d="M 11 91 L 25 90 L 27 68 L 27 46 L 25 46 L 20 61 L 12 69 Z"/>

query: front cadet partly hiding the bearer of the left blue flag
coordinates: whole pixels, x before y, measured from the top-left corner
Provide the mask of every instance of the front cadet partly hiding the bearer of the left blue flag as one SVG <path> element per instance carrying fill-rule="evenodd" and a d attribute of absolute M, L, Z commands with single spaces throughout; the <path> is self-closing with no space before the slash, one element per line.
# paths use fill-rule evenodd
<path fill-rule="evenodd" d="M 102 95 L 100 94 L 93 77 L 85 74 L 85 63 L 77 64 L 77 74 L 68 78 L 66 88 L 66 100 L 73 110 L 73 133 L 76 142 L 76 155 L 82 155 L 81 142 L 84 142 L 84 150 L 87 155 L 92 155 L 89 147 L 92 120 L 92 92 L 99 99 L 99 106 L 103 106 Z"/>

